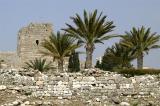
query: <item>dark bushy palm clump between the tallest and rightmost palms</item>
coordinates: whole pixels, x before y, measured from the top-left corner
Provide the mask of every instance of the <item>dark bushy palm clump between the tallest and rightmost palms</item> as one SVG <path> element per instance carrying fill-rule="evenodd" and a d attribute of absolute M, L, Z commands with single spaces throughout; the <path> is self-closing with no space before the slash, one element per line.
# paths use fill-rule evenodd
<path fill-rule="evenodd" d="M 130 62 L 134 59 L 135 56 L 131 53 L 129 48 L 123 47 L 119 43 L 115 43 L 115 45 L 106 49 L 102 58 L 102 67 L 108 69 L 113 69 L 118 66 L 130 68 Z"/>

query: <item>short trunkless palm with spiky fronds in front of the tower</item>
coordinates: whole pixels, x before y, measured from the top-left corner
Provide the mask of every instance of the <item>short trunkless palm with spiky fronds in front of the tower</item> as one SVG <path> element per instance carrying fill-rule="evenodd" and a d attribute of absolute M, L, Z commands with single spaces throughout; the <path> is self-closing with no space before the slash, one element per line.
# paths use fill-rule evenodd
<path fill-rule="evenodd" d="M 51 62 L 47 63 L 46 59 L 41 59 L 41 58 L 35 58 L 35 60 L 29 60 L 29 62 L 25 62 L 24 66 L 24 69 L 34 69 L 40 72 L 44 72 L 53 68 L 54 67 Z"/>

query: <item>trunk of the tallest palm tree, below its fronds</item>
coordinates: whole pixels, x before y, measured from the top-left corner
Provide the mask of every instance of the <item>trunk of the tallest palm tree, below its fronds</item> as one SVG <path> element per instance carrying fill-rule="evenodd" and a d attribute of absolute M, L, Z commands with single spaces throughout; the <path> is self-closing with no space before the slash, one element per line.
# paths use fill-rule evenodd
<path fill-rule="evenodd" d="M 94 48 L 90 45 L 86 47 L 86 63 L 85 63 L 85 68 L 86 69 L 92 68 L 93 50 L 94 50 Z"/>

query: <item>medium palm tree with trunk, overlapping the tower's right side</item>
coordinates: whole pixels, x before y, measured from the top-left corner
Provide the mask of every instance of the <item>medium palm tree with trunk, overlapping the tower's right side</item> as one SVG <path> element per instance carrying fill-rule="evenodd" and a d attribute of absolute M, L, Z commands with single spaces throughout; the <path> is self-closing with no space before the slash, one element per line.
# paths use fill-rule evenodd
<path fill-rule="evenodd" d="M 61 34 L 57 32 L 57 35 L 53 34 L 49 39 L 45 39 L 42 43 L 42 47 L 45 51 L 41 51 L 46 56 L 53 57 L 53 60 L 58 61 L 58 69 L 63 72 L 63 63 L 65 57 L 69 56 L 72 51 L 80 47 L 74 44 L 75 38 L 67 36 L 66 34 Z"/>

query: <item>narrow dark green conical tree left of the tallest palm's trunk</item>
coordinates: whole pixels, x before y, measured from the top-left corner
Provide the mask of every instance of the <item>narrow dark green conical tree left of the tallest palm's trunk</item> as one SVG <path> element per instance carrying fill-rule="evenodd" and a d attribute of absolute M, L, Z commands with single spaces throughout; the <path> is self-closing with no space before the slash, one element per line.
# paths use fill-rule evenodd
<path fill-rule="evenodd" d="M 75 51 L 69 57 L 69 72 L 78 72 L 80 71 L 79 55 Z"/>

